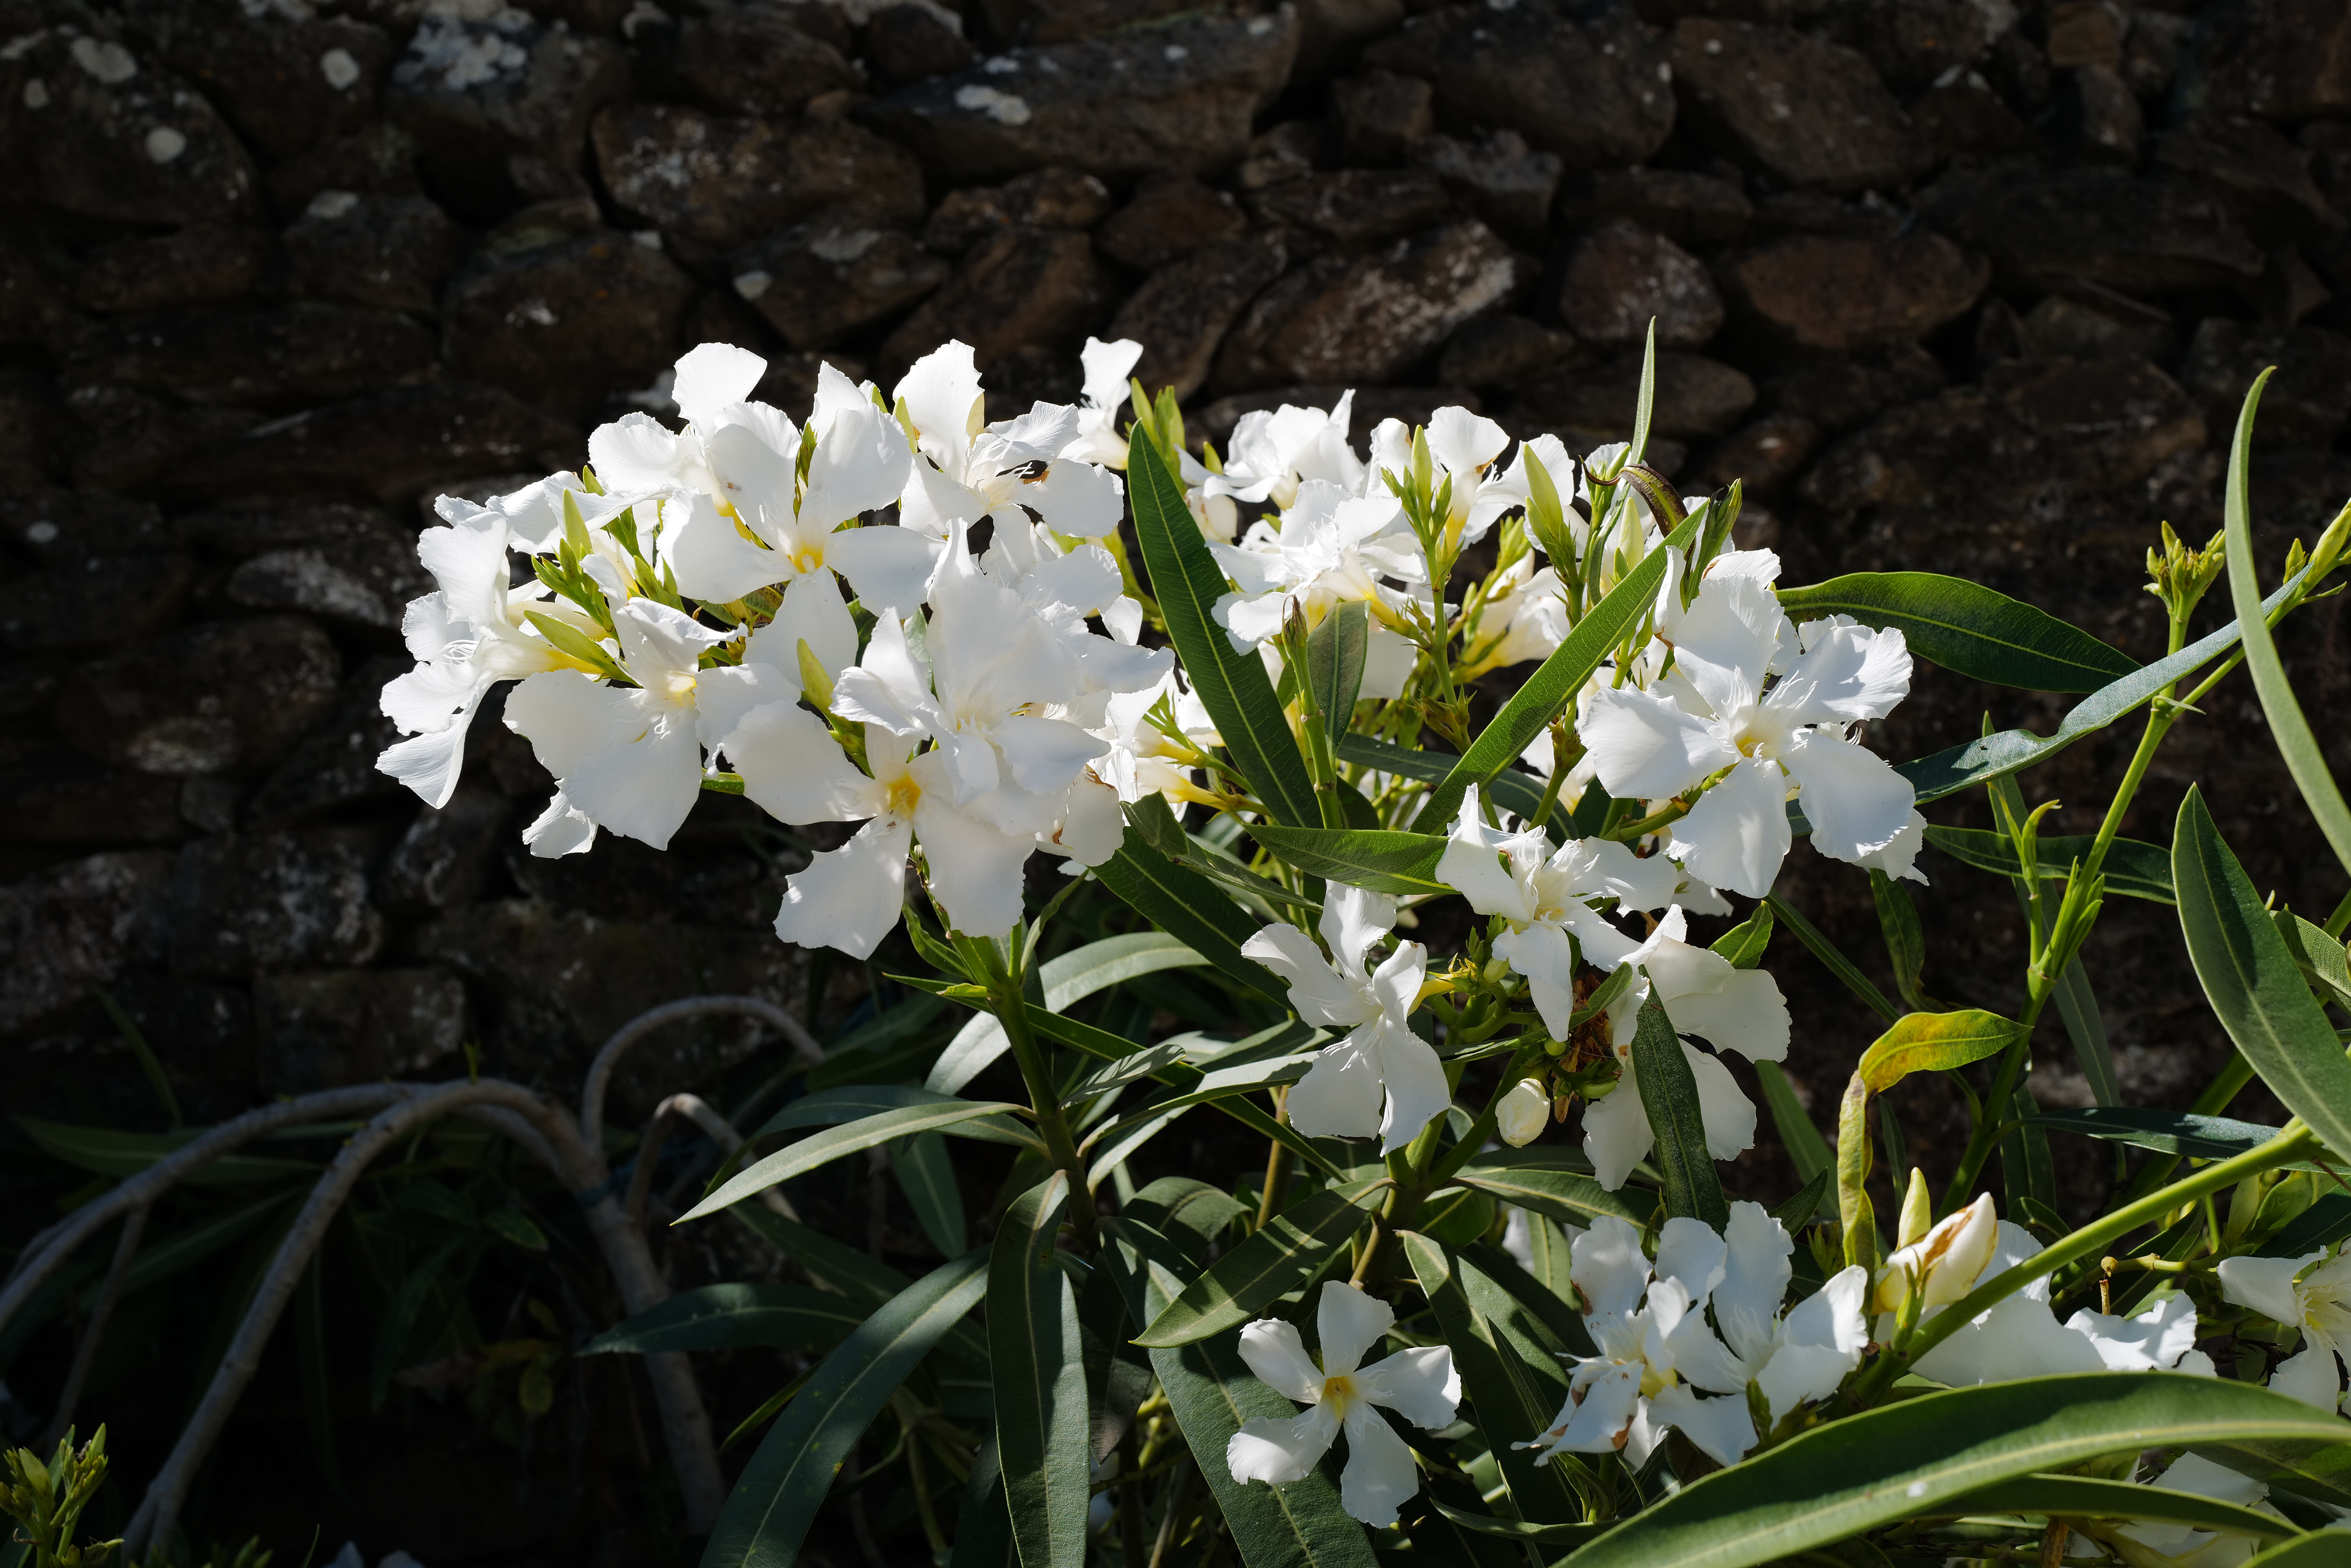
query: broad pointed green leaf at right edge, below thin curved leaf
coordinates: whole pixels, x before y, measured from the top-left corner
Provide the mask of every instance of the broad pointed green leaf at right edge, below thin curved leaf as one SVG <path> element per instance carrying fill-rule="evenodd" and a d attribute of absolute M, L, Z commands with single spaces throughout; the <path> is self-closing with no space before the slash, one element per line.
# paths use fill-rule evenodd
<path fill-rule="evenodd" d="M 2229 1039 L 2320 1143 L 2351 1150 L 2351 1060 L 2193 788 L 2172 830 L 2172 882 L 2189 961 Z"/>

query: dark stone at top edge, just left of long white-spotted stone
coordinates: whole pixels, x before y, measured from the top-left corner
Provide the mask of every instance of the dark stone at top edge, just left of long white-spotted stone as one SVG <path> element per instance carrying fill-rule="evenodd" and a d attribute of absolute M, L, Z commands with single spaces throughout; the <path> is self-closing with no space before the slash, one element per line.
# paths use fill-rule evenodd
<path fill-rule="evenodd" d="M 637 80 L 722 115 L 797 115 L 809 99 L 858 87 L 856 66 L 802 28 L 806 9 L 813 7 L 719 0 L 698 16 L 644 19 L 630 31 Z"/>

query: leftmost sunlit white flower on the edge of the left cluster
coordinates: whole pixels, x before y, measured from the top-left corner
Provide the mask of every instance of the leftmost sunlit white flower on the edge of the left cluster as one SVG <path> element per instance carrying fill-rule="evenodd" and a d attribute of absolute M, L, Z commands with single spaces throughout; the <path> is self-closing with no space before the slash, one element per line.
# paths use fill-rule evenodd
<path fill-rule="evenodd" d="M 508 520 L 498 508 L 475 508 L 454 527 L 426 529 L 416 536 L 416 557 L 440 590 L 411 599 L 400 621 L 416 668 L 386 682 L 383 717 L 409 738 L 386 748 L 376 766 L 440 809 L 456 795 L 465 733 L 489 689 L 578 665 L 531 630 L 524 611 L 576 621 L 590 635 L 592 628 L 569 604 L 548 599 L 536 581 L 508 585 Z"/>

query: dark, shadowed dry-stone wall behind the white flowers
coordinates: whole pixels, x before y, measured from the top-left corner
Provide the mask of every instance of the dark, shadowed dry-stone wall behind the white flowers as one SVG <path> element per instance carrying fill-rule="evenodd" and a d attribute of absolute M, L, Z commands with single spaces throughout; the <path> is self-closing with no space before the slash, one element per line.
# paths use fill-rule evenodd
<path fill-rule="evenodd" d="M 2351 491 L 2346 118 L 2337 0 L 0 0 L 7 1107 L 153 1117 L 94 987 L 197 1119 L 468 1046 L 567 1086 L 654 1001 L 799 994 L 764 924 L 802 846 L 741 802 L 550 865 L 496 722 L 447 811 L 371 771 L 428 498 L 574 465 L 691 343 L 799 404 L 818 357 L 886 386 L 959 336 L 1025 404 L 1126 334 L 1211 437 L 1357 386 L 1361 428 L 1465 402 L 1582 449 L 1657 317 L 1655 451 L 1744 477 L 1789 581 L 1958 571 L 2149 656 L 2139 552 L 2217 527 L 2259 364 L 2269 536 Z M 2313 712 L 2337 618 L 2290 639 Z M 2248 701 L 2132 830 L 2215 778 L 2320 907 Z M 1923 672 L 1876 741 L 1987 708 L 2062 703 Z M 2029 780 L 2059 830 L 2130 738 Z M 2008 891 L 1925 865 L 1928 985 L 2010 1001 Z M 1874 952 L 1867 886 L 1787 886 Z M 1874 1027 L 1775 966 L 1827 1119 Z M 2177 1098 L 2217 1041 L 2170 912 L 2090 966 L 2125 1086 Z M 1947 1107 L 1897 1103 L 1933 1150 Z"/>

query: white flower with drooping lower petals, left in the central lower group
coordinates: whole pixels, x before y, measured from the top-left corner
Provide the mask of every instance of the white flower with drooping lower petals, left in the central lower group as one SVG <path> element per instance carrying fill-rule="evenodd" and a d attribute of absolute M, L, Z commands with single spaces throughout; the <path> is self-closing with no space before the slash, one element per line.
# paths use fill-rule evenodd
<path fill-rule="evenodd" d="M 1321 950 L 1298 926 L 1265 926 L 1241 952 L 1288 980 L 1291 1006 L 1312 1025 L 1347 1030 L 1324 1046 L 1288 1098 L 1291 1126 L 1307 1138 L 1380 1135 L 1394 1154 L 1453 1103 L 1444 1063 L 1406 1018 L 1420 1001 L 1429 952 L 1396 943 L 1396 952 L 1364 973 L 1364 954 L 1396 924 L 1396 900 L 1333 882 L 1324 893 Z"/>

